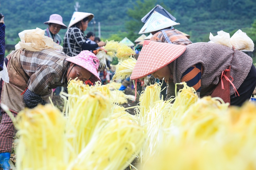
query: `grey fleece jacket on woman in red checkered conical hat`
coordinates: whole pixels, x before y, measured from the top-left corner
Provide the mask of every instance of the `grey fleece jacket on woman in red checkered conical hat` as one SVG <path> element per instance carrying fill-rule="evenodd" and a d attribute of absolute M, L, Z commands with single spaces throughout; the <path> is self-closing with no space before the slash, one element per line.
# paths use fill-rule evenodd
<path fill-rule="evenodd" d="M 233 84 L 236 89 L 239 89 L 252 66 L 250 56 L 242 51 L 235 50 L 233 57 L 233 49 L 224 45 L 198 42 L 186 47 L 186 51 L 173 62 L 174 83 L 181 82 L 182 74 L 188 68 L 201 63 L 203 65 L 201 89 L 218 84 L 222 71 L 228 69 L 229 66 L 231 66 L 230 76 L 234 78 Z M 230 95 L 233 94 L 234 88 L 230 84 Z"/>

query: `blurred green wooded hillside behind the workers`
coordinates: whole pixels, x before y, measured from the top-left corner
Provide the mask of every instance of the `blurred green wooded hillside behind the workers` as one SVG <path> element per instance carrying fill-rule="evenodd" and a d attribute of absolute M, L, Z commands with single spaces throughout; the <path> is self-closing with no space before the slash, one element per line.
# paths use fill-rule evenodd
<path fill-rule="evenodd" d="M 92 31 L 98 36 L 100 22 L 103 40 L 127 37 L 134 41 L 143 26 L 140 19 L 159 4 L 176 17 L 180 25 L 175 28 L 189 34 L 192 42 L 207 42 L 210 32 L 217 35 L 220 30 L 232 36 L 238 29 L 256 42 L 255 0 L 11 0 L 1 1 L 0 6 L 5 15 L 6 44 L 16 44 L 18 33 L 25 29 L 47 28 L 43 22 L 53 13 L 61 15 L 68 26 L 76 2 L 78 11 L 95 16 L 95 24 L 90 22 L 85 33 Z M 65 32 L 60 31 L 62 38 Z"/>

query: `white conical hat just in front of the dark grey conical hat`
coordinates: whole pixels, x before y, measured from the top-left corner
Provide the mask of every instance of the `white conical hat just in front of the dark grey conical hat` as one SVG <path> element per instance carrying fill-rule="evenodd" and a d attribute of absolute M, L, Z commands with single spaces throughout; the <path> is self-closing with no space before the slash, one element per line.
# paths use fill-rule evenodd
<path fill-rule="evenodd" d="M 151 33 L 154 31 L 158 31 L 164 28 L 169 28 L 171 26 L 178 25 L 175 21 L 172 21 L 170 18 L 163 16 L 162 14 L 154 11 L 150 16 L 148 21 L 144 24 L 139 34 Z"/>

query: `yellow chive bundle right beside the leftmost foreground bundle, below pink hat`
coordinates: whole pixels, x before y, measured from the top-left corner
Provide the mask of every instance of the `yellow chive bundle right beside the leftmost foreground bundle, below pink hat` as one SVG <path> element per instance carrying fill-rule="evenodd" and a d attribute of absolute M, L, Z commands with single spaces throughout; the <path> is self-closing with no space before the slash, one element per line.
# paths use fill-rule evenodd
<path fill-rule="evenodd" d="M 110 115 L 110 108 L 110 99 L 98 91 L 79 96 L 79 100 L 69 106 L 66 133 L 71 147 L 74 148 L 71 159 L 89 143 L 96 124 Z"/>

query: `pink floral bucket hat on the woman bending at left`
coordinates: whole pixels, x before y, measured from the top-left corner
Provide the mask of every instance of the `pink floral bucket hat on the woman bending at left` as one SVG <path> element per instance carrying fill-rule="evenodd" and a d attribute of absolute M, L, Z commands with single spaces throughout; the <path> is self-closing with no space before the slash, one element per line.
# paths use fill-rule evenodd
<path fill-rule="evenodd" d="M 97 69 L 100 65 L 100 61 L 94 55 L 94 53 L 88 50 L 84 50 L 81 51 L 77 56 L 66 58 L 66 60 L 74 64 L 77 64 L 78 66 L 81 66 L 82 68 L 85 68 L 86 70 L 91 72 L 92 76 L 89 80 L 92 83 L 95 83 L 96 81 L 101 82 L 97 72 Z"/>

